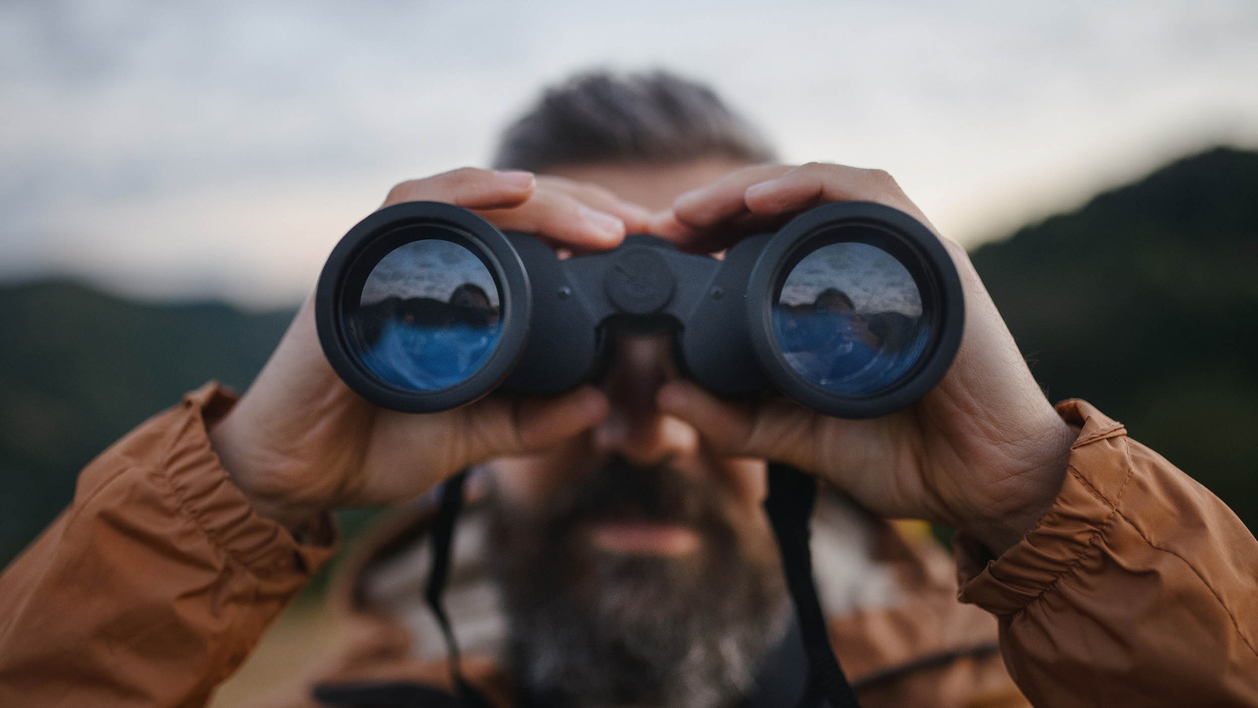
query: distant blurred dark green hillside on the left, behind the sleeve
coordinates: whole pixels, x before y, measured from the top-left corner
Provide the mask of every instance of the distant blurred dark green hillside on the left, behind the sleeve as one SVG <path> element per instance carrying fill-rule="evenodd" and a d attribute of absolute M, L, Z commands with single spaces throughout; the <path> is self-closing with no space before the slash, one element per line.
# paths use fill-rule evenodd
<path fill-rule="evenodd" d="M 208 379 L 247 385 L 291 319 L 63 281 L 0 287 L 0 564 L 69 501 L 88 460 Z"/>

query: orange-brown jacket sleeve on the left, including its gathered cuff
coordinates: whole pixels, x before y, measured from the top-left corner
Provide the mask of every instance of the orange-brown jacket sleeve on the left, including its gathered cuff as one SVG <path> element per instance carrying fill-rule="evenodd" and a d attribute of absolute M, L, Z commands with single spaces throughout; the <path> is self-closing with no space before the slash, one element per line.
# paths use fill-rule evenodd
<path fill-rule="evenodd" d="M 201 705 L 331 554 L 259 517 L 210 448 L 233 398 L 189 394 L 93 460 L 0 576 L 0 705 Z"/>

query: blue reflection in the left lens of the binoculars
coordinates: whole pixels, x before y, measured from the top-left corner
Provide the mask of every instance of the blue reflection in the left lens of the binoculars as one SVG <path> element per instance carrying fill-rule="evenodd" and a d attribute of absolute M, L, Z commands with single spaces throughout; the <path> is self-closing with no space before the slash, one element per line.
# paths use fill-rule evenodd
<path fill-rule="evenodd" d="M 361 362 L 408 391 L 449 388 L 479 369 L 502 329 L 498 286 L 449 241 L 413 241 L 380 260 L 351 317 Z"/>

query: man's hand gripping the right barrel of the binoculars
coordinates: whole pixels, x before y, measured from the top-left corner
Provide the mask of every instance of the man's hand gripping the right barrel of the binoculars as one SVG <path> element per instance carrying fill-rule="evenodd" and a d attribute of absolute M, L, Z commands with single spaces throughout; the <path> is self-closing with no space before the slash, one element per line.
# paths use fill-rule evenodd
<path fill-rule="evenodd" d="M 887 173 L 813 163 L 733 171 L 679 197 L 652 229 L 691 249 L 715 249 L 731 234 L 842 200 L 878 202 L 930 226 Z M 965 333 L 947 375 L 913 406 L 848 421 L 788 399 L 731 403 L 679 380 L 660 388 L 660 409 L 692 423 L 720 452 L 813 471 L 881 515 L 965 529 L 1003 553 L 1057 496 L 1076 432 L 1030 375 L 965 249 L 941 241 L 961 275 Z"/>

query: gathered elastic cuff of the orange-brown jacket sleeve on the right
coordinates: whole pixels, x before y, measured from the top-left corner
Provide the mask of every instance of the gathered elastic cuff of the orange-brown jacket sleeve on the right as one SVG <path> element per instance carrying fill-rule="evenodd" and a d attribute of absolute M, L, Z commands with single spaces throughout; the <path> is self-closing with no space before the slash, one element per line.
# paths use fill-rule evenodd
<path fill-rule="evenodd" d="M 999 558 L 957 534 L 962 602 L 995 615 L 1019 612 L 1083 561 L 1115 514 L 1131 475 L 1126 428 L 1083 401 L 1064 401 L 1057 412 L 1079 430 L 1062 490 L 1035 528 Z"/>

